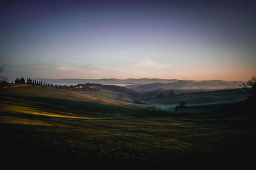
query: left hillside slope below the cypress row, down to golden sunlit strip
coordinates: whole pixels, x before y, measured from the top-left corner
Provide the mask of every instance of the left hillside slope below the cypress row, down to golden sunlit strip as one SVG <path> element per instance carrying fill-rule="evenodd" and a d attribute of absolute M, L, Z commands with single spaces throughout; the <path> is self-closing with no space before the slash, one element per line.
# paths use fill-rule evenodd
<path fill-rule="evenodd" d="M 4 113 L 88 119 L 97 118 L 101 114 L 123 113 L 131 108 L 138 108 L 135 104 L 111 99 L 109 96 L 99 99 L 100 94 L 84 95 L 37 85 L 16 85 L 1 90 L 0 94 L 0 110 Z"/>

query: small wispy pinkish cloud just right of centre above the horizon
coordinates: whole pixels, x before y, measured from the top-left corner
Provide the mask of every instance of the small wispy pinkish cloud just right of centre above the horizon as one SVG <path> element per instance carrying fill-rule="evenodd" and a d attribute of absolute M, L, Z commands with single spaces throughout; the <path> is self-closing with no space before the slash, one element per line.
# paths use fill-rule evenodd
<path fill-rule="evenodd" d="M 167 67 L 173 66 L 172 63 L 161 63 L 155 60 L 142 59 L 142 60 L 132 60 L 133 68 L 154 68 L 154 69 L 166 69 Z"/>

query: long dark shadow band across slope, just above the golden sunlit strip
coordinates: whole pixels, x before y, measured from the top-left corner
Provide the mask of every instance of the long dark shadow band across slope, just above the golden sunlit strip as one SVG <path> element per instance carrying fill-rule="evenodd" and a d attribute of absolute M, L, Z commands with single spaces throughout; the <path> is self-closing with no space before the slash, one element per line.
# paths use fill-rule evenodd
<path fill-rule="evenodd" d="M 17 106 L 26 106 L 40 111 L 50 111 L 51 113 L 74 113 L 77 115 L 93 117 L 105 117 L 115 115 L 127 115 L 132 117 L 179 117 L 179 113 L 170 111 L 152 111 L 152 108 L 127 108 L 122 106 L 110 106 L 106 104 L 84 102 L 84 101 L 70 101 L 66 99 L 57 99 L 52 97 L 26 97 L 17 95 L 0 96 L 2 103 L 14 104 Z M 171 114 L 170 114 L 171 113 Z"/>

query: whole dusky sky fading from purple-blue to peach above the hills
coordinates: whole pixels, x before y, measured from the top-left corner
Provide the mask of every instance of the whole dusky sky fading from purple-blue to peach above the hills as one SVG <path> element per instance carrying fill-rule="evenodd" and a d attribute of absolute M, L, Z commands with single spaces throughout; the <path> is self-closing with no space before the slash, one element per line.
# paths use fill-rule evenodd
<path fill-rule="evenodd" d="M 253 1 L 1 1 L 0 66 L 31 78 L 248 81 Z"/>

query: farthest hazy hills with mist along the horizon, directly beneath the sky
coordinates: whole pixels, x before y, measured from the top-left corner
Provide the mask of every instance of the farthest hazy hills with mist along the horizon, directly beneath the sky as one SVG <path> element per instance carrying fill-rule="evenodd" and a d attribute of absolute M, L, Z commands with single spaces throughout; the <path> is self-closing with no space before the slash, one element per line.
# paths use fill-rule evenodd
<path fill-rule="evenodd" d="M 77 83 L 97 83 L 104 85 L 122 85 L 131 89 L 140 90 L 156 90 L 156 89 L 227 89 L 237 88 L 244 83 L 243 81 L 223 81 L 223 80 L 177 80 L 177 79 L 160 79 L 160 78 L 128 78 L 128 79 L 47 79 L 35 78 L 36 81 L 45 81 L 56 85 L 77 85 Z M 10 81 L 15 79 L 10 78 Z M 149 84 L 149 85 L 148 85 Z M 150 85 L 152 84 L 152 85 Z"/>

